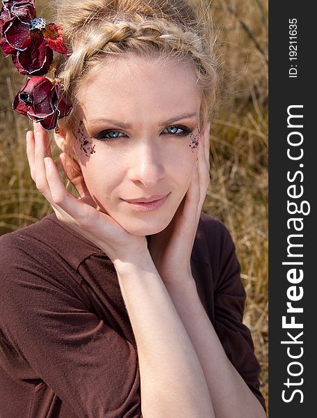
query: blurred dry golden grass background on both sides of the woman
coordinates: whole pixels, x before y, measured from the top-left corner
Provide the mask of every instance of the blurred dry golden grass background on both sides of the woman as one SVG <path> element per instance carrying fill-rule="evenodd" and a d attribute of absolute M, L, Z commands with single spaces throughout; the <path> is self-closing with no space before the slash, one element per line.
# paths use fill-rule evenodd
<path fill-rule="evenodd" d="M 236 244 L 247 291 L 244 322 L 268 405 L 268 0 L 192 1 L 204 3 L 212 18 L 220 65 L 203 211 L 224 222 Z M 49 20 L 47 1 L 36 3 L 38 15 Z M 22 82 L 10 57 L 0 54 L 0 235 L 52 212 L 29 173 L 31 121 L 11 109 Z"/>

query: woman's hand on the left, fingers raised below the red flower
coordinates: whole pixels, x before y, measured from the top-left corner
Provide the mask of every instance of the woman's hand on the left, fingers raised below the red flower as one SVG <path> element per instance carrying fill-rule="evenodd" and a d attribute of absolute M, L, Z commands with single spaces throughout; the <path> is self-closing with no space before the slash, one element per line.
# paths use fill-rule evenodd
<path fill-rule="evenodd" d="M 38 190 L 51 203 L 56 217 L 101 248 L 113 262 L 133 262 L 138 256 L 142 257 L 145 251 L 148 252 L 145 236 L 132 235 L 113 217 L 97 210 L 84 183 L 79 164 L 63 154 L 60 159 L 62 167 L 81 198 L 77 199 L 67 191 L 51 158 L 47 131 L 40 123 L 33 123 L 33 127 L 34 132 L 26 134 L 31 177 Z M 67 170 L 66 165 L 69 167 Z M 70 178 L 72 173 L 74 176 Z"/>

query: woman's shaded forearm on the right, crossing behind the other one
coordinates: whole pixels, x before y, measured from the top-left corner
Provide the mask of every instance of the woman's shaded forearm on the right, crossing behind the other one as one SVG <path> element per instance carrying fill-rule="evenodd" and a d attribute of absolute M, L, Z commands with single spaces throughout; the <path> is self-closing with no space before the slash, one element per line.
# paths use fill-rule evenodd
<path fill-rule="evenodd" d="M 216 418 L 265 418 L 262 405 L 227 358 L 193 277 L 166 288 L 200 359 Z"/>

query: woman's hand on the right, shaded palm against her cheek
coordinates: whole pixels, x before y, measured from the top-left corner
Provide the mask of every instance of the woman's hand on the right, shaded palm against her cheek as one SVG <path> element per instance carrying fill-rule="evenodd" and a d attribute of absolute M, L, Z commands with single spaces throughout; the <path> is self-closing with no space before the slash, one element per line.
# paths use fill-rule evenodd
<path fill-rule="evenodd" d="M 200 134 L 197 162 L 183 201 L 170 224 L 149 240 L 149 252 L 165 284 L 181 283 L 192 278 L 190 256 L 210 183 L 209 130 L 210 123 Z"/>

